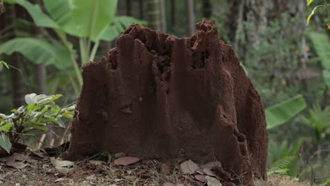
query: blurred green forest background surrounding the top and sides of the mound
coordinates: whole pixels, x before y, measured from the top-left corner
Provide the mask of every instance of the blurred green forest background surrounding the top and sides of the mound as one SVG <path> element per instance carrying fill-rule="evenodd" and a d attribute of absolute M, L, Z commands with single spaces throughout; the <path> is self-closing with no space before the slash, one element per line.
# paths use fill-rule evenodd
<path fill-rule="evenodd" d="M 11 68 L 0 72 L 0 113 L 24 105 L 25 94 L 32 92 L 76 101 L 82 65 L 99 61 L 130 23 L 190 37 L 195 23 L 212 18 L 268 108 L 269 174 L 326 185 L 327 5 L 324 0 L 4 0 L 0 61 Z"/>

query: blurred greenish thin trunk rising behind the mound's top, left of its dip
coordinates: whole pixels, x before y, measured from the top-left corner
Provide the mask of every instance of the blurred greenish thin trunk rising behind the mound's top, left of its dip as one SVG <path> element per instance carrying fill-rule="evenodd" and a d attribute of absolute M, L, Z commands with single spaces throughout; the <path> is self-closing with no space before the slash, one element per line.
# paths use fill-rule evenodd
<path fill-rule="evenodd" d="M 147 4 L 147 21 L 148 25 L 153 30 L 161 30 L 159 0 L 146 0 Z"/>

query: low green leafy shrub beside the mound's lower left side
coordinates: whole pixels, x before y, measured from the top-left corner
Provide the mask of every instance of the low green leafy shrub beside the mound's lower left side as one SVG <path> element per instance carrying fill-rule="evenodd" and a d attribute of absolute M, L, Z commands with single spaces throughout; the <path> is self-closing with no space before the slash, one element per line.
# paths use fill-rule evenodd
<path fill-rule="evenodd" d="M 25 137 L 35 137 L 35 132 L 47 132 L 48 125 L 59 125 L 65 128 L 63 118 L 73 118 L 75 105 L 58 106 L 55 100 L 61 94 L 47 96 L 44 94 L 27 94 L 27 106 L 13 109 L 6 116 L 0 113 L 0 147 L 10 153 L 12 144 L 16 144 Z"/>

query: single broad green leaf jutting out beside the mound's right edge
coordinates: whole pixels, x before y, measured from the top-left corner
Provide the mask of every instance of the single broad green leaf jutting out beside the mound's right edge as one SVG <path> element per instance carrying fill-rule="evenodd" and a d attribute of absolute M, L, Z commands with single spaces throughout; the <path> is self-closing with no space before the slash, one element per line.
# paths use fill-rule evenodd
<path fill-rule="evenodd" d="M 266 109 L 267 129 L 286 123 L 305 109 L 306 103 L 302 95 L 298 95 Z"/>

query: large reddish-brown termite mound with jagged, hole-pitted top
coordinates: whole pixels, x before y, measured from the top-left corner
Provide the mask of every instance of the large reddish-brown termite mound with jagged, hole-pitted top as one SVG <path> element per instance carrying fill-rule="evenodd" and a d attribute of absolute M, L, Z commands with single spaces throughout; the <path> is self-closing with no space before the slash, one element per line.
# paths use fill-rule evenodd
<path fill-rule="evenodd" d="M 95 149 L 216 159 L 245 185 L 266 179 L 264 106 L 214 20 L 184 39 L 133 24 L 82 75 L 70 159 Z"/>

